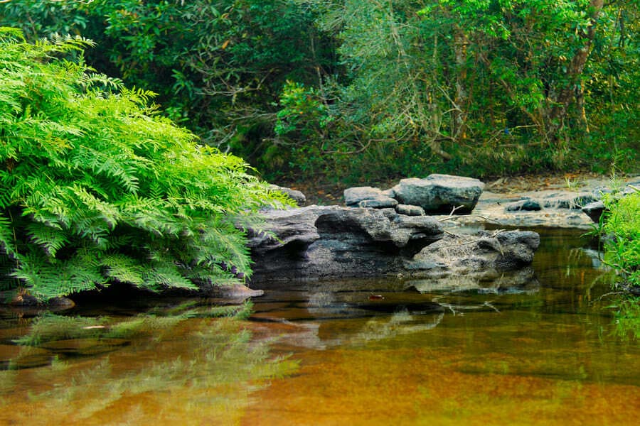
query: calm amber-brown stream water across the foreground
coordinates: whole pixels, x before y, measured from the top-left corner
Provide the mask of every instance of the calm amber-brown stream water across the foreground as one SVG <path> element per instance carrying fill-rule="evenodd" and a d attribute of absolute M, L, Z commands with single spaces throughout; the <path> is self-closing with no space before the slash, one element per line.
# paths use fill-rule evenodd
<path fill-rule="evenodd" d="M 248 321 L 186 300 L 5 312 L 0 425 L 637 425 L 640 349 L 579 236 L 545 231 L 513 287 L 298 283 Z"/>

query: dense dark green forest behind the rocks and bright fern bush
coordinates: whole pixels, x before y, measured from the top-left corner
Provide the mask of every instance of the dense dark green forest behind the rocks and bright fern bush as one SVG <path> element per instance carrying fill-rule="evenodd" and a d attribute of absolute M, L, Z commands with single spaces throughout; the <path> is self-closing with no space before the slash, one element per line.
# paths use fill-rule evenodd
<path fill-rule="evenodd" d="M 639 163 L 636 0 L 21 0 L 86 62 L 272 180 Z"/>

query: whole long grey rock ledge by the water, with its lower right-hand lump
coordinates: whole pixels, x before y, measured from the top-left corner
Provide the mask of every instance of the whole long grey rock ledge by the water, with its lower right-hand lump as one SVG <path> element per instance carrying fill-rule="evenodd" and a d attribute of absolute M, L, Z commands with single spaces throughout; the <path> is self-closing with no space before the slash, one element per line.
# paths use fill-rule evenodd
<path fill-rule="evenodd" d="M 538 234 L 519 231 L 444 238 L 433 217 L 394 209 L 309 206 L 265 215 L 271 233 L 249 241 L 252 285 L 260 288 L 282 280 L 510 271 L 530 264 L 539 244 Z"/>

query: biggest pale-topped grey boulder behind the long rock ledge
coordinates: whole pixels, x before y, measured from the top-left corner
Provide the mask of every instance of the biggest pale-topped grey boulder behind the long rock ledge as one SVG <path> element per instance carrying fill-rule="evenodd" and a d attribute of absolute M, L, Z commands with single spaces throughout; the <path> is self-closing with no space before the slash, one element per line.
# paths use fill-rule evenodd
<path fill-rule="evenodd" d="M 454 213 L 466 214 L 476 206 L 483 188 L 484 183 L 477 179 L 434 174 L 402 179 L 393 191 L 400 203 L 420 206 L 428 213 L 449 213 L 456 208 Z"/>

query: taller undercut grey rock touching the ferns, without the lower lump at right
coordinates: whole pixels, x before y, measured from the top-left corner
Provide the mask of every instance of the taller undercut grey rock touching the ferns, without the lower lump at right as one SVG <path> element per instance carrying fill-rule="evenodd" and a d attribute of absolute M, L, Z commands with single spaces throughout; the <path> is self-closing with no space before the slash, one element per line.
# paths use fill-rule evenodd
<path fill-rule="evenodd" d="M 394 209 L 309 206 L 265 212 L 272 234 L 250 237 L 253 282 L 300 278 L 385 275 L 442 238 L 432 217 L 408 217 Z"/>

